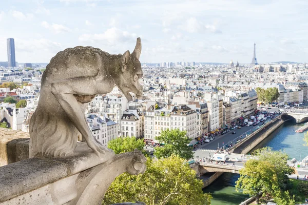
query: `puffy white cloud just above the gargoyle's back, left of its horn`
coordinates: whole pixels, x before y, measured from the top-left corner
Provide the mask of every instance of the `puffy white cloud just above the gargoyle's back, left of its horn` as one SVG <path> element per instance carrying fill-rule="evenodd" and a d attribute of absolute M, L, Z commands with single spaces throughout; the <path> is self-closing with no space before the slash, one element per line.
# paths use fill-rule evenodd
<path fill-rule="evenodd" d="M 79 36 L 80 42 L 102 42 L 109 45 L 127 42 L 129 39 L 135 39 L 135 33 L 128 33 L 118 28 L 112 27 L 107 29 L 104 33 L 83 34 Z"/>

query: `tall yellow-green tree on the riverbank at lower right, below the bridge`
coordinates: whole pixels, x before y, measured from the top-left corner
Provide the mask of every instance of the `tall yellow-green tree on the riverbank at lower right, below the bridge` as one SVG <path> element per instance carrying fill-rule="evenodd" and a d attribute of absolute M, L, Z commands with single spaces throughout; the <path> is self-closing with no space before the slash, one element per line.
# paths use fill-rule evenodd
<path fill-rule="evenodd" d="M 273 151 L 272 148 L 262 148 L 253 154 L 256 158 L 249 159 L 240 170 L 236 190 L 257 196 L 257 203 L 258 193 L 262 192 L 263 196 L 271 196 L 276 201 L 292 204 L 293 198 L 285 192 L 288 175 L 294 172 L 293 168 L 287 165 L 287 155 L 281 151 Z"/>

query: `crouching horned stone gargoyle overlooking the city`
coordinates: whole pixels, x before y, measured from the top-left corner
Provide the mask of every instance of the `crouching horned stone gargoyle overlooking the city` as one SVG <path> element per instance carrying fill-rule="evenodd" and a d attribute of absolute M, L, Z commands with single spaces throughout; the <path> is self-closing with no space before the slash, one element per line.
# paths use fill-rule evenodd
<path fill-rule="evenodd" d="M 131 54 L 110 55 L 98 48 L 78 46 L 51 58 L 30 120 L 30 157 L 68 156 L 79 133 L 97 155 L 112 152 L 93 137 L 84 115 L 86 103 L 97 94 L 109 93 L 115 85 L 128 101 L 132 100 L 129 92 L 142 96 L 140 54 L 141 39 L 137 38 Z"/>

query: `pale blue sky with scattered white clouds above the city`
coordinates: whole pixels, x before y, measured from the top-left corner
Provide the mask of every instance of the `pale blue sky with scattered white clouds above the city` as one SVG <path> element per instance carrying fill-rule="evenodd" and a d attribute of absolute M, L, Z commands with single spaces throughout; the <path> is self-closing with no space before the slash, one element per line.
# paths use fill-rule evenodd
<path fill-rule="evenodd" d="M 49 63 L 65 48 L 133 51 L 142 63 L 308 62 L 308 1 L 0 0 L 0 61 Z"/>

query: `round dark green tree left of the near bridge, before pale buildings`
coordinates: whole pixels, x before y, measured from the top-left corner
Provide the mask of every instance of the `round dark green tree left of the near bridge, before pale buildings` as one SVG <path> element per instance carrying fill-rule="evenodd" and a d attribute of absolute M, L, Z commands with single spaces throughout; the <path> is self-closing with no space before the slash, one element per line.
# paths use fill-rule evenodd
<path fill-rule="evenodd" d="M 184 159 L 190 159 L 193 156 L 192 148 L 187 146 L 191 139 L 187 137 L 186 131 L 164 130 L 160 136 L 156 137 L 162 147 L 155 148 L 155 156 L 157 158 L 169 157 L 172 154 L 178 155 Z"/>

